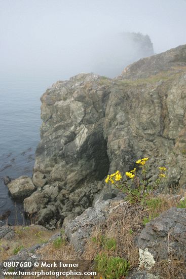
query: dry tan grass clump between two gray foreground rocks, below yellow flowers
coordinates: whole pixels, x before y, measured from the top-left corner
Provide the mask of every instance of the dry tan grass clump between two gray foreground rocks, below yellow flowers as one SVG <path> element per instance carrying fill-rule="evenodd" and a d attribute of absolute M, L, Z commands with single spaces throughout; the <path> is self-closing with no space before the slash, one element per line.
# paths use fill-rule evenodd
<path fill-rule="evenodd" d="M 117 242 L 115 251 L 107 251 L 110 256 L 119 256 L 130 262 L 130 267 L 138 265 L 138 248 L 135 238 L 142 229 L 144 213 L 141 206 L 134 206 L 126 203 L 125 207 L 119 207 L 111 213 L 107 223 L 96 227 L 87 242 L 83 259 L 92 260 L 96 254 L 103 251 L 101 246 L 101 235 L 114 238 Z M 93 242 L 92 238 L 97 241 Z"/>

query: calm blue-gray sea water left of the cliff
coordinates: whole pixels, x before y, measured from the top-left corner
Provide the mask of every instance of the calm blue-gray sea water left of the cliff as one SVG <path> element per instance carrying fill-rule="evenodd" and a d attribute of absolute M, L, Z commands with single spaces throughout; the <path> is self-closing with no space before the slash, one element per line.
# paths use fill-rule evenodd
<path fill-rule="evenodd" d="M 26 220 L 22 202 L 12 199 L 3 178 L 31 177 L 40 141 L 40 97 L 56 80 L 0 75 L 0 215 L 10 210 L 9 224 Z"/>

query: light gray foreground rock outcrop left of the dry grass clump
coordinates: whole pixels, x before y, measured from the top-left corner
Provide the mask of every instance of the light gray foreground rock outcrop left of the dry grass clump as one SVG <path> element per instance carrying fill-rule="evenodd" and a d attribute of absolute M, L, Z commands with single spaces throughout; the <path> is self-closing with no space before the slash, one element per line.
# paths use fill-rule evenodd
<path fill-rule="evenodd" d="M 65 228 L 65 234 L 73 244 L 76 251 L 83 253 L 86 238 L 91 234 L 95 225 L 102 224 L 106 221 L 108 215 L 114 208 L 125 206 L 123 199 L 108 199 L 97 201 L 94 208 L 89 207 L 81 216 L 70 222 Z"/>

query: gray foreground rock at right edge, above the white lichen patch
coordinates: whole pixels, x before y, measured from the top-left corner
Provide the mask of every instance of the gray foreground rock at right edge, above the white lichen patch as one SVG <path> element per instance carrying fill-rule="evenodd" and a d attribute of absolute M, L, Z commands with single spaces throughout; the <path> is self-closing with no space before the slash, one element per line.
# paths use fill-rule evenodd
<path fill-rule="evenodd" d="M 155 260 L 186 255 L 186 208 L 172 207 L 145 225 L 138 237 L 140 249 L 147 249 Z"/>

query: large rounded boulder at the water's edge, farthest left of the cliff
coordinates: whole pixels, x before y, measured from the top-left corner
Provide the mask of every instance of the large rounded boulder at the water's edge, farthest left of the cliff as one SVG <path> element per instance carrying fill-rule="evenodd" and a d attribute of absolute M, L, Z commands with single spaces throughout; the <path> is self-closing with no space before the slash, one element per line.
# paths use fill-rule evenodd
<path fill-rule="evenodd" d="M 12 197 L 18 199 L 28 197 L 35 191 L 35 186 L 33 185 L 31 178 L 24 176 L 11 181 L 7 186 Z"/>

